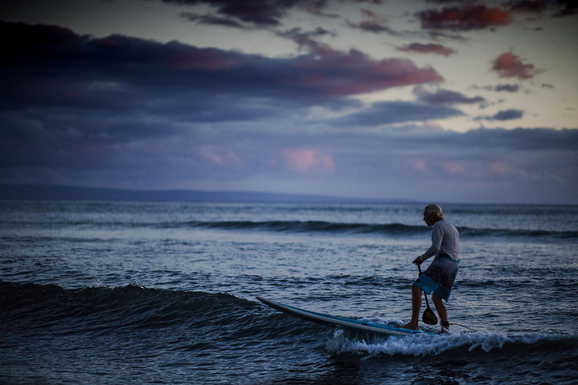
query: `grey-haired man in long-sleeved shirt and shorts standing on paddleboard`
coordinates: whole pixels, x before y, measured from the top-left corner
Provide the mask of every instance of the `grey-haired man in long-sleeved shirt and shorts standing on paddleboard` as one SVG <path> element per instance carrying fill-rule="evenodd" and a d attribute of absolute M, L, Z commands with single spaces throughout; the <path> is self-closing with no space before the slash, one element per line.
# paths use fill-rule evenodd
<path fill-rule="evenodd" d="M 426 271 L 412 285 L 412 320 L 403 328 L 418 330 L 421 309 L 421 290 L 432 294 L 432 301 L 442 320 L 442 327 L 449 330 L 447 309 L 442 302 L 450 297 L 451 286 L 454 284 L 458 272 L 458 249 L 460 248 L 460 234 L 454 225 L 443 219 L 442 208 L 432 203 L 425 206 L 424 222 L 432 230 L 432 245 L 425 253 L 413 260 L 420 265 L 433 256 L 433 262 Z"/>

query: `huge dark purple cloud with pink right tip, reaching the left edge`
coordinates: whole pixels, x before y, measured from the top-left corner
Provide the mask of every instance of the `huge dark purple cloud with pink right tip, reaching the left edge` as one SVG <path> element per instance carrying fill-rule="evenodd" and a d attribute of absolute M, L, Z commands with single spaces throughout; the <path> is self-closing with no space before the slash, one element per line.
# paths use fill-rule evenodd
<path fill-rule="evenodd" d="M 358 50 L 342 52 L 313 40 L 312 36 L 328 33 L 323 29 L 309 33 L 298 30 L 280 33 L 307 50 L 306 54 L 293 58 L 267 58 L 121 35 L 97 39 L 79 36 L 64 28 L 2 21 L 0 31 L 9 36 L 4 54 L 10 60 L 2 61 L 3 65 L 25 69 L 19 74 L 42 69 L 42 73 L 54 78 L 62 73 L 66 74 L 66 79 L 86 76 L 90 81 L 161 88 L 171 85 L 188 92 L 258 95 L 305 103 L 319 103 L 320 97 L 340 98 L 443 81 L 435 69 L 418 68 L 409 59 L 375 60 Z M 46 44 L 42 50 L 32 45 L 39 41 Z M 98 74 L 96 78 L 94 74 Z M 9 94 L 24 89 L 21 80 L 10 78 L 10 81 L 13 89 L 7 91 Z M 29 92 L 35 89 L 29 87 Z M 46 92 L 42 94 L 42 98 L 47 97 Z M 102 102 L 107 100 L 102 99 Z M 202 102 L 199 100 L 198 104 Z"/>

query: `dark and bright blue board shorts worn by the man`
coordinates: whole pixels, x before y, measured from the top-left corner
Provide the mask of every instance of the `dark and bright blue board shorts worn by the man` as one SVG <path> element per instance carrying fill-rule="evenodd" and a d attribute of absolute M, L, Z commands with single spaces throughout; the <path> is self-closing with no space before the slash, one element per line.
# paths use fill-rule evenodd
<path fill-rule="evenodd" d="M 450 298 L 455 275 L 458 274 L 458 267 L 460 267 L 459 260 L 454 261 L 449 255 L 441 254 L 413 283 L 426 293 L 433 293 L 447 301 Z"/>

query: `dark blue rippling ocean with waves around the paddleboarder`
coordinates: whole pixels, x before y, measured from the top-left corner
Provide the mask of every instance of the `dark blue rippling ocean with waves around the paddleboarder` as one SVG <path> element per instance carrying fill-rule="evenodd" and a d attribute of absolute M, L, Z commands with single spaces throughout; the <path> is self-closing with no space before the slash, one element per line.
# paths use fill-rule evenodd
<path fill-rule="evenodd" d="M 0 383 L 576 384 L 578 206 L 440 205 L 460 325 L 387 337 L 255 296 L 408 322 L 424 204 L 0 201 Z"/>

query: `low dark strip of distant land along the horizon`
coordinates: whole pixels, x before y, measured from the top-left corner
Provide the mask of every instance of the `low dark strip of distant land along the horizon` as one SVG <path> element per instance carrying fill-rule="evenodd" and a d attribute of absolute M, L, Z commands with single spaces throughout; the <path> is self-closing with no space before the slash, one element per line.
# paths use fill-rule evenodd
<path fill-rule="evenodd" d="M 0 184 L 0 199 L 16 200 L 134 200 L 212 202 L 327 202 L 327 203 L 419 203 L 410 200 L 344 198 L 250 191 L 128 190 L 62 185 Z"/>

